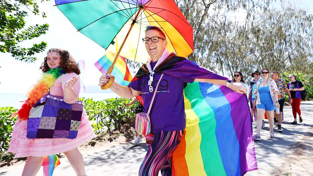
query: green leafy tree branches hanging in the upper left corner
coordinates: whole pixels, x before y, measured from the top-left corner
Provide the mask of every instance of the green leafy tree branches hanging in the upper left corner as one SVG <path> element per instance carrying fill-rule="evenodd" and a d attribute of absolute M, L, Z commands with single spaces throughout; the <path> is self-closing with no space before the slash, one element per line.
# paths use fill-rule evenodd
<path fill-rule="evenodd" d="M 44 1 L 48 0 L 38 2 Z M 30 48 L 23 48 L 19 43 L 45 34 L 49 25 L 36 24 L 26 28 L 24 18 L 28 16 L 28 11 L 46 17 L 44 12 L 39 12 L 35 0 L 0 0 L 0 52 L 11 53 L 16 60 L 33 62 L 37 58 L 32 55 L 44 51 L 47 43 L 33 44 Z"/>

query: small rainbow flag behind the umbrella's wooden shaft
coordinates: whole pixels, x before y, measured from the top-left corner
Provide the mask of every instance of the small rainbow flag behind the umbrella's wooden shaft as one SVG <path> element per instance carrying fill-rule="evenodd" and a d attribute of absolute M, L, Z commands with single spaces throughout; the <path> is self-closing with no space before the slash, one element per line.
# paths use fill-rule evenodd
<path fill-rule="evenodd" d="M 105 56 L 95 62 L 94 65 L 102 74 L 106 74 L 107 70 L 113 63 L 115 56 L 115 53 L 109 51 Z M 119 56 L 117 58 L 111 75 L 115 76 L 115 82 L 120 85 L 128 85 L 131 82 L 131 73 L 128 70 L 124 57 Z"/>

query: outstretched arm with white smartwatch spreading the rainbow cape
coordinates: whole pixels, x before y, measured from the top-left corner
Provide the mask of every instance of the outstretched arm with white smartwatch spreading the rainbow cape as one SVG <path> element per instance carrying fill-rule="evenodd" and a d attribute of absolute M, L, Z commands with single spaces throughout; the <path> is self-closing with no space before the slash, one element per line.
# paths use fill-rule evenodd
<path fill-rule="evenodd" d="M 226 80 L 213 80 L 213 79 L 195 79 L 194 81 L 197 82 L 207 82 L 207 83 L 211 83 L 211 84 L 215 84 L 215 85 L 225 85 L 227 81 Z M 240 83 L 230 83 L 228 85 L 228 88 L 230 88 L 231 90 L 237 92 L 237 93 L 241 93 L 241 94 L 247 94 L 247 89 Z"/>

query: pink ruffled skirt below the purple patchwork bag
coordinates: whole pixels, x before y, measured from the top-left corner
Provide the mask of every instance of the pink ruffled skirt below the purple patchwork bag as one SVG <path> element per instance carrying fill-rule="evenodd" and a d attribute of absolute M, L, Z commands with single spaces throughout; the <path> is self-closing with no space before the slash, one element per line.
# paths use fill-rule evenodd
<path fill-rule="evenodd" d="M 81 116 L 81 124 L 75 139 L 53 138 L 53 139 L 29 139 L 27 134 L 27 120 L 17 121 L 13 126 L 11 142 L 8 152 L 15 153 L 15 158 L 27 156 L 47 156 L 62 153 L 81 146 L 96 137 L 91 122 L 86 115 L 85 109 Z"/>

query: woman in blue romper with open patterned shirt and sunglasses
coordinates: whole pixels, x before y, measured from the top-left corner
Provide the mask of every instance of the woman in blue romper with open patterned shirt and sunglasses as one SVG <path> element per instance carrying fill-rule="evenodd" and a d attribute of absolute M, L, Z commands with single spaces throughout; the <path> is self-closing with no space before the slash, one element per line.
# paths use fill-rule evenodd
<path fill-rule="evenodd" d="M 274 128 L 274 110 L 275 106 L 280 107 L 278 103 L 278 88 L 275 80 L 269 79 L 269 69 L 264 68 L 261 72 L 262 80 L 256 83 L 255 86 L 255 101 L 254 106 L 257 105 L 258 116 L 257 116 L 257 133 L 254 135 L 254 140 L 261 140 L 261 120 L 266 112 L 269 120 L 269 136 L 275 138 Z"/>

